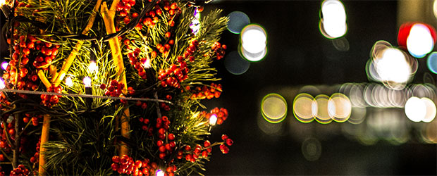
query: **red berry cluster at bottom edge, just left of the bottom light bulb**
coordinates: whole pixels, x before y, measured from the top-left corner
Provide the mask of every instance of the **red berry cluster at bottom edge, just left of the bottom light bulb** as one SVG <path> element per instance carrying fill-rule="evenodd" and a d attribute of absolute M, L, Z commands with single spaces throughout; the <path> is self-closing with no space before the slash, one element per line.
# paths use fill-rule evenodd
<path fill-rule="evenodd" d="M 118 172 L 119 174 L 127 174 L 134 176 L 149 176 L 153 175 L 155 170 L 158 168 L 156 163 L 150 163 L 149 159 L 143 161 L 134 161 L 127 155 L 124 156 L 113 156 L 112 157 L 112 170 Z"/>

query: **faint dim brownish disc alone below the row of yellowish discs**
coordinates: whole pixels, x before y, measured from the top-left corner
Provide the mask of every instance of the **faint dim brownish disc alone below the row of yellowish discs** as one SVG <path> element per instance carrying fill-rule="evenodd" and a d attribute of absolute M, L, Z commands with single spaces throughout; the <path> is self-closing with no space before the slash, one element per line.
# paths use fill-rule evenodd
<path fill-rule="evenodd" d="M 316 161 L 321 156 L 321 143 L 314 138 L 307 138 L 302 142 L 302 154 L 307 161 Z"/>

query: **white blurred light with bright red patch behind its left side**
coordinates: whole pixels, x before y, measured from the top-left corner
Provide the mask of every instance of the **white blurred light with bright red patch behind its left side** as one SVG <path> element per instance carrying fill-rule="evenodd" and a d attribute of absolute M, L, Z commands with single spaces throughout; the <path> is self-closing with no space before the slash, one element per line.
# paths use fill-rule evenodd
<path fill-rule="evenodd" d="M 416 58 L 423 58 L 434 48 L 434 40 L 426 25 L 417 23 L 411 27 L 407 37 L 407 49 Z"/>

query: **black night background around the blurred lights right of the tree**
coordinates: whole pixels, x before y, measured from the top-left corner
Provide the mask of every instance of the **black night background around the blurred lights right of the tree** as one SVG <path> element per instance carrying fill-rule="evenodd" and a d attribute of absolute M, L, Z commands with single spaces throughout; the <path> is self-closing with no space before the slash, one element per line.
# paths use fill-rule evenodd
<path fill-rule="evenodd" d="M 223 94 L 211 106 L 224 106 L 230 118 L 213 130 L 213 140 L 222 133 L 233 137 L 230 153 L 216 151 L 207 163 L 207 175 L 436 175 L 436 145 L 414 140 L 395 146 L 379 141 L 364 146 L 338 131 L 338 123 L 303 124 L 292 113 L 295 94 L 283 94 L 288 116 L 279 134 L 265 134 L 257 125 L 261 99 L 272 92 L 293 92 L 304 85 L 334 85 L 369 82 L 365 65 L 378 40 L 396 45 L 397 1 L 343 1 L 349 51 L 338 51 L 319 32 L 321 1 L 218 1 L 208 8 L 221 8 L 223 15 L 246 13 L 268 35 L 266 57 L 251 63 L 242 75 L 232 75 L 217 63 L 223 78 Z M 224 32 L 221 39 L 229 53 L 238 49 L 239 35 Z M 226 58 L 225 58 L 226 59 Z M 423 82 L 424 62 L 414 82 Z M 288 91 L 290 90 L 290 91 Z M 321 92 L 326 92 L 321 89 Z M 325 94 L 331 94 L 326 92 Z M 293 129 L 298 128 L 298 129 Z M 307 130 L 303 133 L 295 133 Z M 301 145 L 305 137 L 321 142 L 321 156 L 307 161 Z"/>

